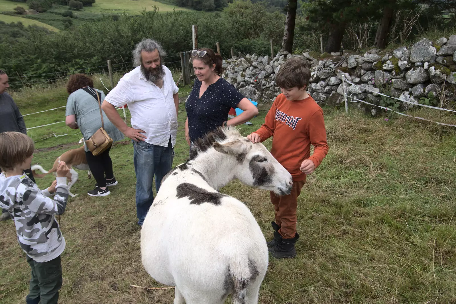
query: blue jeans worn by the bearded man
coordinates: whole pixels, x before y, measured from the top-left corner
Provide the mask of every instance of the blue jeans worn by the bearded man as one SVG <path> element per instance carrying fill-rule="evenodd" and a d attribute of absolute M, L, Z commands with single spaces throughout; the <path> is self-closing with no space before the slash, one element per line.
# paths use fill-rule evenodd
<path fill-rule="evenodd" d="M 160 189 L 161 179 L 171 170 L 174 149 L 171 138 L 168 147 L 147 142 L 133 142 L 133 162 L 136 173 L 136 216 L 142 226 L 145 215 L 154 202 L 152 179 L 155 175 L 155 189 Z"/>

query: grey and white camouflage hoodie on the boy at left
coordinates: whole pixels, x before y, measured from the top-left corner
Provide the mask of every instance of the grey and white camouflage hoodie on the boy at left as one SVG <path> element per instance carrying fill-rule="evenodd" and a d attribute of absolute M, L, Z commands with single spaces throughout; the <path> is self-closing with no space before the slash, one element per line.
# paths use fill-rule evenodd
<path fill-rule="evenodd" d="M 25 174 L 5 177 L 0 174 L 0 207 L 14 217 L 22 250 L 36 262 L 57 258 L 65 249 L 65 239 L 54 217 L 67 207 L 67 178 L 57 177 L 54 199 L 41 191 Z"/>

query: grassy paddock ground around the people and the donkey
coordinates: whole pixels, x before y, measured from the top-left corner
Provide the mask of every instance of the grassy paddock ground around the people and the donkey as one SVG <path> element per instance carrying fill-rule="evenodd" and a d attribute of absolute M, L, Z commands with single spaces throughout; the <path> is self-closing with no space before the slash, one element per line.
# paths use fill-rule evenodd
<path fill-rule="evenodd" d="M 105 82 L 106 83 L 106 82 Z M 101 88 L 101 85 L 96 85 Z M 185 97 L 189 88 L 181 88 Z M 59 86 L 13 94 L 23 114 L 65 104 Z M 270 105 L 269 105 L 270 106 Z M 260 108 L 254 126 L 264 121 Z M 456 132 L 407 117 L 346 114 L 324 108 L 330 151 L 308 177 L 298 202 L 298 256 L 269 261 L 261 304 L 456 303 Z M 429 115 L 429 112 L 426 112 Z M 419 111 L 418 116 L 425 116 Z M 27 127 L 63 120 L 64 111 L 26 116 Z M 188 157 L 183 102 L 174 166 Z M 443 119 L 444 117 L 439 117 Z M 448 118 L 448 117 L 447 117 Z M 34 140 L 52 132 L 75 134 L 36 142 L 33 163 L 50 168 L 55 158 L 78 147 L 81 135 L 66 127 L 33 129 Z M 265 145 L 270 148 L 271 140 Z M 119 185 L 111 195 L 91 198 L 95 181 L 80 172 L 60 224 L 67 241 L 62 254 L 61 304 L 171 304 L 173 290 L 144 271 L 135 214 L 133 146 L 116 144 L 111 157 Z M 41 188 L 53 178 L 38 180 Z M 250 208 L 267 239 L 274 213 L 269 193 L 238 181 L 221 189 Z M 0 302 L 24 303 L 29 268 L 12 221 L 1 222 Z"/>

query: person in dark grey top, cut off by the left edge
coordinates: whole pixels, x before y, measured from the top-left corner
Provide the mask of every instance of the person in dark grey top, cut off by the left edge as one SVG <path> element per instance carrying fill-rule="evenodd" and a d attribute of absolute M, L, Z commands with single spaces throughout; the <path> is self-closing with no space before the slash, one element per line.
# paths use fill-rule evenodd
<path fill-rule="evenodd" d="M 5 92 L 10 87 L 8 81 L 8 75 L 3 70 L 0 70 L 0 133 L 13 131 L 27 135 L 26 123 L 21 112 L 16 103 L 14 103 L 13 98 Z M 35 182 L 30 168 L 24 170 L 24 173 Z M 0 221 L 7 219 L 10 219 L 10 215 L 5 209 L 2 209 Z"/>

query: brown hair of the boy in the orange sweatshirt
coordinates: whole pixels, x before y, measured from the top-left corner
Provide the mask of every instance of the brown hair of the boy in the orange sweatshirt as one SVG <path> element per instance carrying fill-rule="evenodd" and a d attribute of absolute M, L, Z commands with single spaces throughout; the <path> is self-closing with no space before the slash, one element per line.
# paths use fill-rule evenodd
<path fill-rule="evenodd" d="M 292 57 L 285 61 L 275 76 L 275 83 L 284 89 L 291 89 L 295 86 L 298 88 L 309 86 L 311 78 L 310 63 L 299 57 Z"/>

